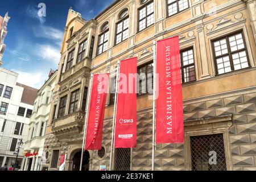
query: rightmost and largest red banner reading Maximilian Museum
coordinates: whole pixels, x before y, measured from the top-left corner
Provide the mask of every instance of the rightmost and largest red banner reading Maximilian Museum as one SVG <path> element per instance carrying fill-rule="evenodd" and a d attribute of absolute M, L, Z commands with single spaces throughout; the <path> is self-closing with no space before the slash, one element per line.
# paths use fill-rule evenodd
<path fill-rule="evenodd" d="M 156 143 L 183 143 L 183 101 L 179 37 L 157 42 Z"/>

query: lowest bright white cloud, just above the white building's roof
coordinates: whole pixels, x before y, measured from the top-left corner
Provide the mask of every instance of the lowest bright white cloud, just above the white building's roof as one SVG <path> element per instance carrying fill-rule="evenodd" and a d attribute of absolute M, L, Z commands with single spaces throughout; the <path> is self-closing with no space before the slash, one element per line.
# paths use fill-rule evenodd
<path fill-rule="evenodd" d="M 22 72 L 13 69 L 12 71 L 19 74 L 18 76 L 18 82 L 20 84 L 32 86 L 33 88 L 41 88 L 41 86 L 44 84 L 44 81 L 47 80 L 48 75 L 43 72 Z"/>

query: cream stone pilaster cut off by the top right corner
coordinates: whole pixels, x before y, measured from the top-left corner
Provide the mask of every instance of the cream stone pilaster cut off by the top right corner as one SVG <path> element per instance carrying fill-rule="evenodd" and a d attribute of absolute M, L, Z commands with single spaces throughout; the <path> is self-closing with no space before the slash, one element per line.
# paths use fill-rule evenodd
<path fill-rule="evenodd" d="M 242 0 L 246 3 L 247 11 L 250 15 L 251 28 L 253 29 L 254 42 L 256 44 L 256 1 Z"/>

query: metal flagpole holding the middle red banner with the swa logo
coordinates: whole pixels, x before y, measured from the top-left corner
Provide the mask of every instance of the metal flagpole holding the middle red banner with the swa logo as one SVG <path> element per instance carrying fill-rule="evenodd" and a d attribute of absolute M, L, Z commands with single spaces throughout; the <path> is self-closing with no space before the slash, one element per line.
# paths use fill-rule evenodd
<path fill-rule="evenodd" d="M 112 141 L 111 141 L 111 151 L 110 151 L 110 163 L 109 163 L 109 171 L 112 171 L 112 158 L 113 158 L 113 151 L 114 151 L 114 130 L 115 130 L 115 114 L 117 111 L 117 96 L 118 96 L 118 80 L 119 80 L 119 68 L 120 68 L 120 61 L 117 63 L 117 76 L 115 80 L 115 102 L 114 102 L 114 115 L 113 115 L 113 127 L 112 127 Z"/>

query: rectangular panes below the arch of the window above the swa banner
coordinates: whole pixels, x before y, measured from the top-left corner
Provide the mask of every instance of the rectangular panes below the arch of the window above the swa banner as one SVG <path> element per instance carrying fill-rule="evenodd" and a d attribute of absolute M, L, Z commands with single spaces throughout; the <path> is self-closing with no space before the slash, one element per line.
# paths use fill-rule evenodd
<path fill-rule="evenodd" d="M 129 34 L 129 17 L 122 19 L 117 23 L 117 33 L 115 35 L 115 44 L 121 43 L 128 38 Z"/>

